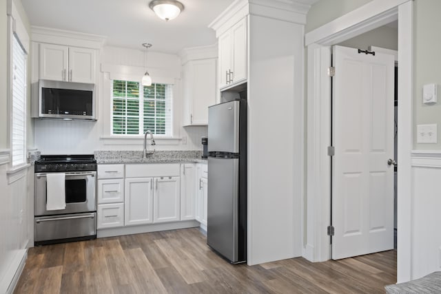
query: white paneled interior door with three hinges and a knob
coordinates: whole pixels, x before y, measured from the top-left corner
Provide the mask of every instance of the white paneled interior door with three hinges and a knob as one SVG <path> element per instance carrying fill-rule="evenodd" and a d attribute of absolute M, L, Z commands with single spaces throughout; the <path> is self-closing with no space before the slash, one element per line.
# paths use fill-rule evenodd
<path fill-rule="evenodd" d="M 392 55 L 334 46 L 332 258 L 393 249 Z"/>

